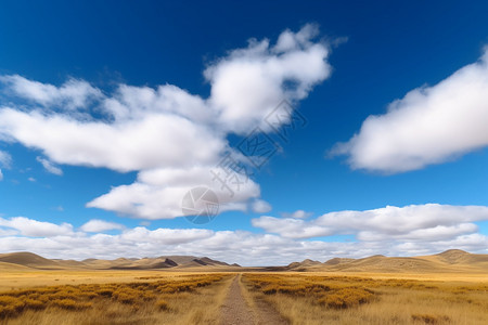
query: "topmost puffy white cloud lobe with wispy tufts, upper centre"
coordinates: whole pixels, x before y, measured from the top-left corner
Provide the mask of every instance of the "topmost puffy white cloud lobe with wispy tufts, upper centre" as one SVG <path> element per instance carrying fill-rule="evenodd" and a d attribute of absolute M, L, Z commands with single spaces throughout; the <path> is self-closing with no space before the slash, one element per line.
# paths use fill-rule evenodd
<path fill-rule="evenodd" d="M 317 32 L 312 25 L 296 34 L 285 30 L 274 46 L 252 39 L 247 48 L 230 52 L 205 70 L 211 83 L 209 102 L 223 128 L 237 133 L 256 126 L 269 130 L 264 118 L 282 100 L 301 100 L 330 76 L 329 50 L 312 41 Z"/>

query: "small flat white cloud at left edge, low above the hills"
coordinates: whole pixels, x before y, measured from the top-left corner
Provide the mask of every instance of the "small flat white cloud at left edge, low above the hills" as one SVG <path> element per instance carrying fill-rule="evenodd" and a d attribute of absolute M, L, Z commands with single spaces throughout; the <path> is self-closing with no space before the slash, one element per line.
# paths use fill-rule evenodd
<path fill-rule="evenodd" d="M 9 220 L 0 218 L 0 225 L 17 230 L 24 236 L 52 237 L 73 234 L 73 226 L 68 223 L 59 225 L 25 217 L 14 217 Z"/>

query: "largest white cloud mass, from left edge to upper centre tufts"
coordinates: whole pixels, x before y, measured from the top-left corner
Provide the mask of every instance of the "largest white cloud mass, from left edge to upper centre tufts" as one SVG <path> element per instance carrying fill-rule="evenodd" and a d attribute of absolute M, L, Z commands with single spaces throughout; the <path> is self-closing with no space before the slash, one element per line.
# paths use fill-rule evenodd
<path fill-rule="evenodd" d="M 218 166 L 228 153 L 239 157 L 229 147 L 230 133 L 271 131 L 262 121 L 277 105 L 296 103 L 329 77 L 329 47 L 317 41 L 317 32 L 306 25 L 283 31 L 274 43 L 249 40 L 230 51 L 205 68 L 206 99 L 172 84 L 119 84 L 106 93 L 78 79 L 56 87 L 0 77 L 7 99 L 0 106 L 0 140 L 41 152 L 46 158 L 38 160 L 55 174 L 62 173 L 56 165 L 138 172 L 134 183 L 113 187 L 89 207 L 169 219 L 182 214 L 188 191 L 206 186 L 215 190 L 221 211 L 265 211 L 253 180 L 239 181 L 230 193 L 215 174 L 228 171 Z M 273 126 L 286 122 L 273 120 Z"/>

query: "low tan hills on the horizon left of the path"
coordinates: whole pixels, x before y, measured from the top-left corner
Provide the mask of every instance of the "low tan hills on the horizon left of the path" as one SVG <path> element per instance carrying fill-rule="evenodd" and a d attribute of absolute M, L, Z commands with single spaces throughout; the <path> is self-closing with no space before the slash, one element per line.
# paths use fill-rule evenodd
<path fill-rule="evenodd" d="M 162 256 L 157 258 L 99 260 L 84 261 L 46 259 L 33 252 L 0 253 L 0 268 L 2 269 L 87 269 L 87 270 L 157 270 L 157 269 L 190 269 L 190 268 L 240 268 L 237 264 L 228 264 L 204 257 L 194 256 Z"/>

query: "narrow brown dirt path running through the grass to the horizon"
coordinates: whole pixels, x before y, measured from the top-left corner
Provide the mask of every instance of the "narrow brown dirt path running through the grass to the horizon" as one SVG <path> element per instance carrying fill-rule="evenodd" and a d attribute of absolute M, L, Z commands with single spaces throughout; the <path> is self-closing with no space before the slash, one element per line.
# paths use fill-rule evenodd
<path fill-rule="evenodd" d="M 240 285 L 241 275 L 236 275 L 221 307 L 221 325 L 286 325 L 288 322 L 266 301 L 254 301 L 254 309 L 247 306 Z"/>

